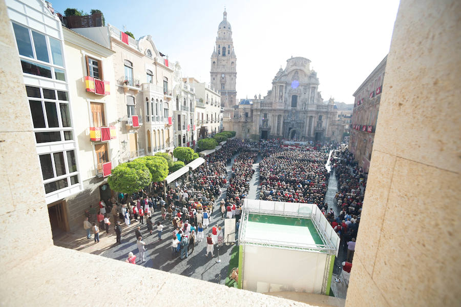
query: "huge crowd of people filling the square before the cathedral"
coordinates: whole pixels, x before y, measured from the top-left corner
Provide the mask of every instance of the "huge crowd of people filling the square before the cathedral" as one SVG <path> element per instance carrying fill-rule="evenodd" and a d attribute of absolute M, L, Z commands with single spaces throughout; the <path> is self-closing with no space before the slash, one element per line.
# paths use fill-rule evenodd
<path fill-rule="evenodd" d="M 355 236 L 357 236 L 363 204 L 365 181 L 362 170 L 353 161 L 347 146 L 339 146 L 331 156 L 331 174 L 337 177 L 338 193 L 334 204 L 325 202 L 330 173 L 325 168 L 330 145 L 304 145 L 286 148 L 282 140 L 249 142 L 228 140 L 221 150 L 195 169 L 181 185 L 166 187 L 156 183 L 150 193 L 140 190 L 132 195 L 120 195 L 119 204 L 115 199 L 100 201 L 99 206 L 86 212 L 84 228 L 87 237 L 91 230 L 95 242 L 99 242 L 99 231 L 110 231 L 114 223 L 116 241 L 121 243 L 121 224 L 146 223 L 149 235 L 161 241 L 163 229 L 168 230 L 174 257 L 187 258 L 200 242 L 206 244 L 206 255 L 213 256 L 214 245 L 224 241 L 224 229 L 218 224 L 210 226 L 211 215 L 218 209 L 221 218 L 236 218 L 242 213 L 243 200 L 248 196 L 249 184 L 255 170 L 253 164 L 258 155 L 260 161 L 261 200 L 316 203 L 333 229 L 340 235 L 347 249 L 347 260 L 353 257 Z M 229 176 L 226 167 L 232 164 Z M 222 193 L 225 196 L 219 200 Z M 338 206 L 340 214 L 335 215 L 331 206 Z M 99 208 L 97 208 L 99 207 Z M 97 211 L 97 212 L 95 212 Z M 154 214 L 159 213 L 159 221 L 154 222 Z M 93 213 L 93 214 L 91 214 Z M 158 219 L 158 217 L 157 217 Z M 171 222 L 172 230 L 168 226 Z M 237 224 L 238 227 L 238 224 Z M 145 246 L 140 227 L 135 230 L 139 257 L 130 254 L 127 261 L 145 261 Z"/>

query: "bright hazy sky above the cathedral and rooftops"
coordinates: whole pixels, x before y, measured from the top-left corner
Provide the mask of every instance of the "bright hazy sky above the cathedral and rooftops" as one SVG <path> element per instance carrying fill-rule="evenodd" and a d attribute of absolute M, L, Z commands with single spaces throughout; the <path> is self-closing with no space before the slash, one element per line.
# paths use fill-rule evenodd
<path fill-rule="evenodd" d="M 353 104 L 352 93 L 389 52 L 399 6 L 398 0 L 50 2 L 61 13 L 99 9 L 106 25 L 136 39 L 152 35 L 157 49 L 180 63 L 183 76 L 207 83 L 225 7 L 237 56 L 238 99 L 266 95 L 286 60 L 302 56 L 317 72 L 323 99 L 346 104 Z"/>

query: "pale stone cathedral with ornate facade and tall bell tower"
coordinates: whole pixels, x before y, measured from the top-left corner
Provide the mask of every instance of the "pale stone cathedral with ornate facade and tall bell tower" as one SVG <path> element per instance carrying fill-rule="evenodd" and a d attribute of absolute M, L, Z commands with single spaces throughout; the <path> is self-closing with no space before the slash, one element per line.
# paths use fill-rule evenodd
<path fill-rule="evenodd" d="M 344 126 L 337 118 L 334 101 L 323 101 L 317 73 L 310 60 L 291 57 L 280 68 L 267 95 L 237 100 L 237 58 L 227 12 L 218 26 L 211 57 L 211 83 L 221 94 L 224 130 L 236 131 L 243 139 L 284 138 L 312 141 L 340 141 Z"/>

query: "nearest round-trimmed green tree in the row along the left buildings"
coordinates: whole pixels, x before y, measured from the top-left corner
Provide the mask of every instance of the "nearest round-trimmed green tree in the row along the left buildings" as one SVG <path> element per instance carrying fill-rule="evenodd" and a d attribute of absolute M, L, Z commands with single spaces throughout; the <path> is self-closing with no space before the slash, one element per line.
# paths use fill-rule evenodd
<path fill-rule="evenodd" d="M 112 170 L 112 175 L 107 179 L 111 190 L 128 194 L 149 186 L 151 181 L 151 172 L 144 162 L 139 161 L 121 163 Z"/>

